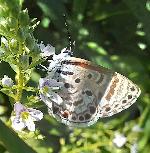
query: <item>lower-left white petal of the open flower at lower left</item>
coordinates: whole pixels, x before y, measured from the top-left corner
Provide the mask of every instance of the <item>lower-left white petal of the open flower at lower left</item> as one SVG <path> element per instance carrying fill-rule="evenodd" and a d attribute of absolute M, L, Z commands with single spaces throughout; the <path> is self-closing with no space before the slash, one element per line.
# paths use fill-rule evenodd
<path fill-rule="evenodd" d="M 16 131 L 21 131 L 26 127 L 25 123 L 19 116 L 11 116 L 12 128 Z"/>

